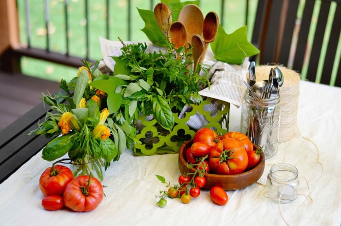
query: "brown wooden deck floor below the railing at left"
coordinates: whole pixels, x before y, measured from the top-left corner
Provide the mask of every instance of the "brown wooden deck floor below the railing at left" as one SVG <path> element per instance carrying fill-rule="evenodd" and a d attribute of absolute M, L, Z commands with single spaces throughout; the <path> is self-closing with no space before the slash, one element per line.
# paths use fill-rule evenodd
<path fill-rule="evenodd" d="M 0 72 L 0 81 L 0 130 L 41 103 L 42 92 L 53 94 L 60 89 L 59 82 L 22 74 Z"/>

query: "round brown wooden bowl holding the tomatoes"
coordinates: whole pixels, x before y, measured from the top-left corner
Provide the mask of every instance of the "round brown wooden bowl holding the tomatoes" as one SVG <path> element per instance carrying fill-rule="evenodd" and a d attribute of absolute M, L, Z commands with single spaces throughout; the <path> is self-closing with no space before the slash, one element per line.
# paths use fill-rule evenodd
<path fill-rule="evenodd" d="M 181 145 L 179 150 L 179 168 L 181 173 L 194 172 L 194 168 L 187 167 L 186 160 L 186 150 L 192 145 L 192 140 L 189 140 Z M 254 145 L 257 148 L 256 145 Z M 221 186 L 224 190 L 238 190 L 245 188 L 249 185 L 256 183 L 262 176 L 265 167 L 265 156 L 262 152 L 261 160 L 256 167 L 251 170 L 245 171 L 243 173 L 234 174 L 234 175 L 219 175 L 206 173 L 206 185 L 203 187 L 204 189 L 210 189 L 213 186 Z"/>

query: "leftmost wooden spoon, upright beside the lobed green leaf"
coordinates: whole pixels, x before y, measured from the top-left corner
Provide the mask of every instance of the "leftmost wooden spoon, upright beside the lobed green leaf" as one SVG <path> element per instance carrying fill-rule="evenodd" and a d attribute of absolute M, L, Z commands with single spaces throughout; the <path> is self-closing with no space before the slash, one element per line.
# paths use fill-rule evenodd
<path fill-rule="evenodd" d="M 167 35 L 170 23 L 172 22 L 170 8 L 165 3 L 158 3 L 154 8 L 154 17 L 162 33 Z"/>

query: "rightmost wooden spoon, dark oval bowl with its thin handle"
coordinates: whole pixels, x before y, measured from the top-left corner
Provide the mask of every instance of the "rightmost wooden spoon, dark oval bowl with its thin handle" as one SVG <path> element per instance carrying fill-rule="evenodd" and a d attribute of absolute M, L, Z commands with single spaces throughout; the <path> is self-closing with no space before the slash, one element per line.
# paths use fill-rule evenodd
<path fill-rule="evenodd" d="M 200 59 L 200 63 L 204 62 L 205 55 L 208 49 L 208 45 L 210 42 L 215 40 L 215 37 L 217 36 L 217 33 L 218 33 L 218 28 L 219 28 L 218 15 L 213 11 L 208 12 L 208 14 L 205 17 L 204 27 L 203 27 L 205 50 L 204 50 L 203 56 Z"/>

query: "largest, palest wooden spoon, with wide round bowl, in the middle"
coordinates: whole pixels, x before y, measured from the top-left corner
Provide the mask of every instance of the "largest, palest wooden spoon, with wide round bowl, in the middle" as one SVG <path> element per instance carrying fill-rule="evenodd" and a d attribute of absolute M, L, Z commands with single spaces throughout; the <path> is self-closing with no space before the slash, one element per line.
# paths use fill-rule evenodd
<path fill-rule="evenodd" d="M 201 36 L 203 34 L 204 16 L 197 5 L 188 4 L 182 8 L 178 21 L 186 27 L 187 43 L 191 43 L 193 35 Z"/>

